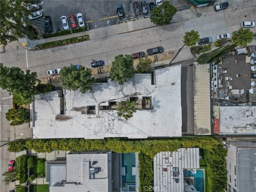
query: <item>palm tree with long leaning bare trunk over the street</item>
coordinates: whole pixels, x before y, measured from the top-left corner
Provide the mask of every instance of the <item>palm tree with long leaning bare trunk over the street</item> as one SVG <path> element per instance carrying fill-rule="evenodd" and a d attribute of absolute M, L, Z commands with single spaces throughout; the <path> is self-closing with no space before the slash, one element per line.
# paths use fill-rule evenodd
<path fill-rule="evenodd" d="M 179 51 L 172 58 L 172 60 L 169 63 L 169 66 L 171 65 L 172 61 L 177 57 L 177 55 L 180 53 L 180 51 L 183 49 L 183 47 L 185 45 L 187 45 L 187 46 L 195 46 L 196 42 L 198 42 L 199 39 L 200 39 L 199 37 L 200 37 L 200 35 L 199 35 L 198 31 L 194 31 L 194 30 L 187 31 L 185 33 L 184 37 L 183 37 L 184 45 L 179 49 Z"/>

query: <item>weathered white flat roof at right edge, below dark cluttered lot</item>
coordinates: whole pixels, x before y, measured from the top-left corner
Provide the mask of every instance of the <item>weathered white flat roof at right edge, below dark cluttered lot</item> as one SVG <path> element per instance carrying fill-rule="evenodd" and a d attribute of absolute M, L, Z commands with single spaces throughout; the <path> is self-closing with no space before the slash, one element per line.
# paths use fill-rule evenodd
<path fill-rule="evenodd" d="M 256 106 L 220 106 L 220 134 L 256 134 Z"/>

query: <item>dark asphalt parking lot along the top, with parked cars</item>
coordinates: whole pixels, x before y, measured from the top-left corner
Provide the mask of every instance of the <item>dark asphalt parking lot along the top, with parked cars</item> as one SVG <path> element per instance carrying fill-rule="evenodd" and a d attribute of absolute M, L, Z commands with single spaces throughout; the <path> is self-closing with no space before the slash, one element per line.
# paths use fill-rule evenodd
<path fill-rule="evenodd" d="M 61 16 L 65 15 L 67 18 L 70 14 L 82 13 L 84 20 L 87 22 L 89 29 L 95 29 L 100 27 L 106 27 L 110 25 L 116 25 L 119 22 L 125 22 L 125 20 L 143 19 L 149 17 L 148 14 L 142 14 L 139 17 L 135 17 L 133 3 L 135 1 L 52 1 L 43 0 L 41 3 L 43 18 L 32 21 L 35 25 L 39 26 L 41 32 L 44 33 L 44 17 L 50 16 L 52 18 L 53 33 L 63 30 L 61 25 Z M 138 1 L 141 10 L 141 1 Z M 146 1 L 148 10 L 149 3 L 155 2 L 153 0 Z M 184 1 L 170 1 L 177 7 L 178 11 L 189 9 L 191 5 L 186 4 Z M 123 5 L 125 12 L 125 19 L 119 20 L 116 14 L 116 5 Z M 142 12 L 142 10 L 141 10 Z M 69 20 L 69 19 L 68 19 Z M 69 21 L 68 21 L 69 22 Z M 70 23 L 69 23 L 70 26 Z"/>

